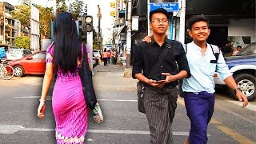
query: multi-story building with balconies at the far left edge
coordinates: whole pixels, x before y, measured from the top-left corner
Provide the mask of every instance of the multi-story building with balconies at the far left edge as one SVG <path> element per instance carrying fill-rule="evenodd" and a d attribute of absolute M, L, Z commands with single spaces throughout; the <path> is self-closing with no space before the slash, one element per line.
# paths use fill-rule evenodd
<path fill-rule="evenodd" d="M 0 42 L 3 44 L 14 45 L 14 39 L 18 36 L 18 25 L 10 11 L 14 6 L 7 2 L 0 2 Z"/>

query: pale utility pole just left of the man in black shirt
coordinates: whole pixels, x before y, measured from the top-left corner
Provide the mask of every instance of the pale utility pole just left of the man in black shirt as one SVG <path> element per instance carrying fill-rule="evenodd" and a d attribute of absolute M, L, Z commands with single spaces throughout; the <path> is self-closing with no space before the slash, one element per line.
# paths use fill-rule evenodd
<path fill-rule="evenodd" d="M 132 12 L 132 0 L 127 0 L 127 34 L 126 34 L 126 69 L 124 72 L 125 77 L 130 77 L 130 51 L 131 51 L 131 12 Z"/>

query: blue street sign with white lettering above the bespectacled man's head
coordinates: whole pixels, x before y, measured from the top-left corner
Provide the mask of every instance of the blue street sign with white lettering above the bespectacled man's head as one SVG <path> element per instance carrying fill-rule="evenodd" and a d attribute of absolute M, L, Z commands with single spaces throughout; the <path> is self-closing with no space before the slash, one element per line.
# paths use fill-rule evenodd
<path fill-rule="evenodd" d="M 164 8 L 168 12 L 178 11 L 178 2 L 150 3 L 150 10 Z"/>

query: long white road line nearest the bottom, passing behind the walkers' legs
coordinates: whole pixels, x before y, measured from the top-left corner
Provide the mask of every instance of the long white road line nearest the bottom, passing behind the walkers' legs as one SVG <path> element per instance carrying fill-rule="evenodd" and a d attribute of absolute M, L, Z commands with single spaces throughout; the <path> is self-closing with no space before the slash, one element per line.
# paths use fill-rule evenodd
<path fill-rule="evenodd" d="M 0 134 L 14 134 L 18 131 L 44 131 L 51 132 L 55 131 L 54 129 L 44 129 L 44 128 L 26 128 L 21 125 L 6 125 L 0 126 Z M 150 131 L 143 130 L 87 130 L 88 133 L 98 133 L 98 134 L 144 134 L 150 135 Z M 174 131 L 176 136 L 188 136 L 189 132 L 178 132 Z M 210 134 L 208 134 L 210 136 Z"/>

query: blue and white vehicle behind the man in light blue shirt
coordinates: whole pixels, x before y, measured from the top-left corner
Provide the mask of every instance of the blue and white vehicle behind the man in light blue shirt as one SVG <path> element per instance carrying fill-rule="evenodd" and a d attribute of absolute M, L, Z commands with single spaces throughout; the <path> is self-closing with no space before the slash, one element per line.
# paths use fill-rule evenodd
<path fill-rule="evenodd" d="M 226 57 L 226 65 L 229 66 L 235 82 L 242 89 L 249 101 L 256 97 L 256 42 L 243 48 L 236 56 Z M 214 82 L 217 86 L 226 86 L 225 82 L 214 74 Z M 230 90 L 235 98 L 233 90 Z"/>

